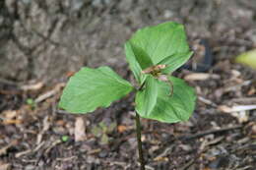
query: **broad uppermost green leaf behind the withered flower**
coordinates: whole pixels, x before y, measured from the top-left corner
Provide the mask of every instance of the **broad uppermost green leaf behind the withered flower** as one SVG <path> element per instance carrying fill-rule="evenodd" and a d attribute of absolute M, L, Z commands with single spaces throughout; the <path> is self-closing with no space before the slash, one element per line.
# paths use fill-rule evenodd
<path fill-rule="evenodd" d="M 177 53 L 187 53 L 189 51 L 184 27 L 174 22 L 139 29 L 129 42 L 132 44 L 131 48 L 135 58 L 141 66 L 141 61 L 149 60 L 145 59 L 147 56 L 149 56 L 153 64 L 156 65 L 165 57 Z M 136 47 L 136 49 L 134 49 L 134 47 Z M 145 55 L 141 55 L 141 53 Z M 141 61 L 138 60 L 138 58 L 142 56 L 144 58 L 141 59 Z"/>

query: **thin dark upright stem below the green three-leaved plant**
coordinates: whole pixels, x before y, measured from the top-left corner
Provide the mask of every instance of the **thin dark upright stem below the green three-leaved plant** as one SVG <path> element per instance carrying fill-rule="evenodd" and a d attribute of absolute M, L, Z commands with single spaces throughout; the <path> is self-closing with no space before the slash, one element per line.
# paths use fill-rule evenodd
<path fill-rule="evenodd" d="M 143 150 L 142 150 L 142 140 L 141 140 L 141 122 L 140 116 L 136 112 L 136 132 L 137 132 L 137 142 L 138 142 L 138 150 L 139 150 L 139 158 L 141 163 L 141 170 L 145 170 L 145 161 L 143 157 Z"/>

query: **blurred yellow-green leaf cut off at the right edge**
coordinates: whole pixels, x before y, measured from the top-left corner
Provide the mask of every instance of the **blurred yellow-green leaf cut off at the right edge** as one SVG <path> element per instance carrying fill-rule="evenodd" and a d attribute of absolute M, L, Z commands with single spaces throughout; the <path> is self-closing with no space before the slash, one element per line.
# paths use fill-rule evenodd
<path fill-rule="evenodd" d="M 235 58 L 236 63 L 241 63 L 256 69 L 256 49 L 244 52 Z"/>

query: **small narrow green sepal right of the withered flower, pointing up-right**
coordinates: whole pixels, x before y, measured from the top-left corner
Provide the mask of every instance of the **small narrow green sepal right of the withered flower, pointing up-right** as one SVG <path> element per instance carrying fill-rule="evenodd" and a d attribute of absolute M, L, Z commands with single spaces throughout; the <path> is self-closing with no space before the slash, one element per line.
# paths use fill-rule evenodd
<path fill-rule="evenodd" d="M 162 73 L 170 74 L 171 72 L 174 72 L 180 66 L 185 64 L 192 55 L 193 52 L 190 51 L 187 53 L 176 53 L 164 58 L 159 63 L 167 65 L 167 67 L 164 70 L 162 70 Z"/>

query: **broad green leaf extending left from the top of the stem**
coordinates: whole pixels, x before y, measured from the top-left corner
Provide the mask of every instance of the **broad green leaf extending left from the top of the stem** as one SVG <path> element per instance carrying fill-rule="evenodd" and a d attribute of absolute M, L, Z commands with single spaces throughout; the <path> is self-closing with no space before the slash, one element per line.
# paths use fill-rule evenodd
<path fill-rule="evenodd" d="M 85 67 L 69 80 L 59 106 L 71 113 L 88 113 L 97 107 L 108 107 L 132 89 L 130 83 L 108 67 Z"/>

